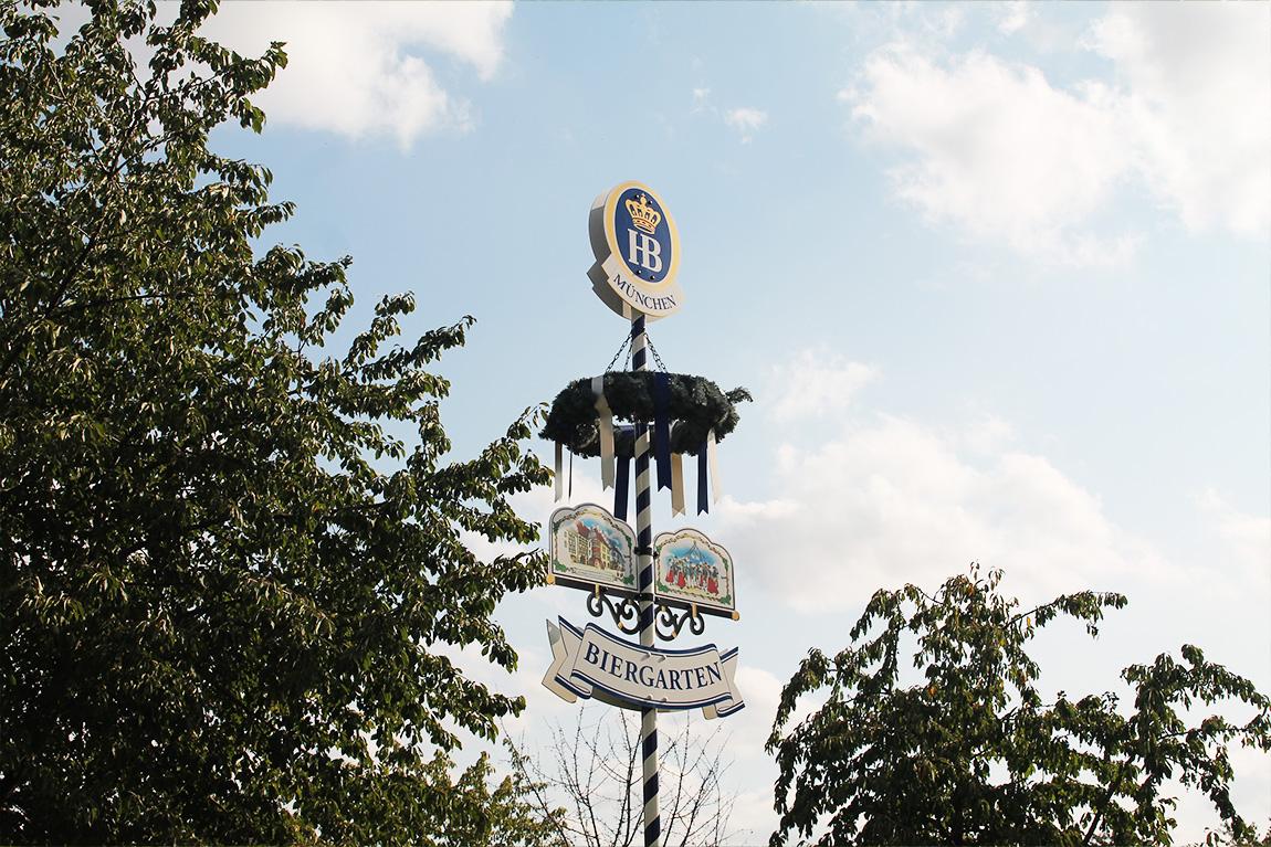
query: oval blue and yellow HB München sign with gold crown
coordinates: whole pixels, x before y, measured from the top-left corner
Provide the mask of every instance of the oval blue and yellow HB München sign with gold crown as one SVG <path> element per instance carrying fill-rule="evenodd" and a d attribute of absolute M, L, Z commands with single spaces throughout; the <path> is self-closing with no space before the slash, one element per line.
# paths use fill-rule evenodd
<path fill-rule="evenodd" d="M 587 276 L 605 303 L 623 315 L 666 317 L 684 301 L 675 218 L 653 189 L 623 183 L 596 198 L 588 220 L 596 264 Z"/>

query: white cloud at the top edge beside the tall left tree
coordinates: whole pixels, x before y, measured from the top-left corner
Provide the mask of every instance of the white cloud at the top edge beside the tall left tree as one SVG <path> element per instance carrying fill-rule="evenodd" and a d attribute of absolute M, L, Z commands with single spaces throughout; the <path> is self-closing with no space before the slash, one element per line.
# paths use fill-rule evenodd
<path fill-rule="evenodd" d="M 430 48 L 491 79 L 503 60 L 506 3 L 222 4 L 205 32 L 248 55 L 286 42 L 287 67 L 258 98 L 269 119 L 350 138 L 389 136 L 404 150 L 473 123 L 419 57 Z"/>

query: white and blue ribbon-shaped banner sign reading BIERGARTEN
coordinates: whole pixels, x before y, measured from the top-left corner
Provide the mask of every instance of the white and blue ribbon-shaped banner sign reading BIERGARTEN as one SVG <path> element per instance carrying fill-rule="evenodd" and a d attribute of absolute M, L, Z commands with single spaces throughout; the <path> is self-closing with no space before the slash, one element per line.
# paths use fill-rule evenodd
<path fill-rule="evenodd" d="M 559 626 L 548 621 L 548 639 L 553 662 L 543 684 L 567 702 L 595 697 L 620 709 L 702 709 L 708 720 L 746 706 L 733 681 L 737 648 L 641 646 L 595 624 L 580 630 L 563 617 Z"/>

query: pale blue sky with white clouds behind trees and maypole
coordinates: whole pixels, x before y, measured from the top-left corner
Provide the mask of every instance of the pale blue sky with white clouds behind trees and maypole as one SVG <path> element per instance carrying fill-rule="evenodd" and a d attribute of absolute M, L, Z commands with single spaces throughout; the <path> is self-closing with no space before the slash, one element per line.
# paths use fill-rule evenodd
<path fill-rule="evenodd" d="M 710 514 L 655 507 L 736 561 L 741 620 L 699 639 L 741 650 L 733 843 L 775 822 L 799 659 L 971 561 L 1023 602 L 1130 598 L 1098 640 L 1047 627 L 1043 692 L 1125 693 L 1185 643 L 1271 692 L 1271 5 L 253 3 L 206 30 L 287 42 L 264 133 L 215 143 L 297 203 L 267 240 L 353 257 L 348 331 L 407 290 L 408 334 L 475 316 L 440 366 L 458 456 L 622 344 L 592 199 L 639 180 L 674 215 L 656 349 L 755 396 Z M 569 502 L 611 505 L 599 462 Z M 562 587 L 501 604 L 512 676 L 465 658 L 531 745 L 578 711 L 539 683 L 558 615 L 591 620 Z M 1233 763 L 1266 825 L 1271 763 Z M 1182 797 L 1178 843 L 1216 820 Z"/>

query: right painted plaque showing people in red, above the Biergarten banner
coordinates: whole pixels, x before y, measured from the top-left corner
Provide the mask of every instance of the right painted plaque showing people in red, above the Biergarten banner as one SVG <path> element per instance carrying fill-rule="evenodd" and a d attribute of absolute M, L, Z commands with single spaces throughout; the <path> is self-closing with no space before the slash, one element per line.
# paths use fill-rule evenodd
<path fill-rule="evenodd" d="M 736 617 L 732 556 L 697 530 L 663 532 L 653 540 L 655 592 L 713 615 Z"/>

